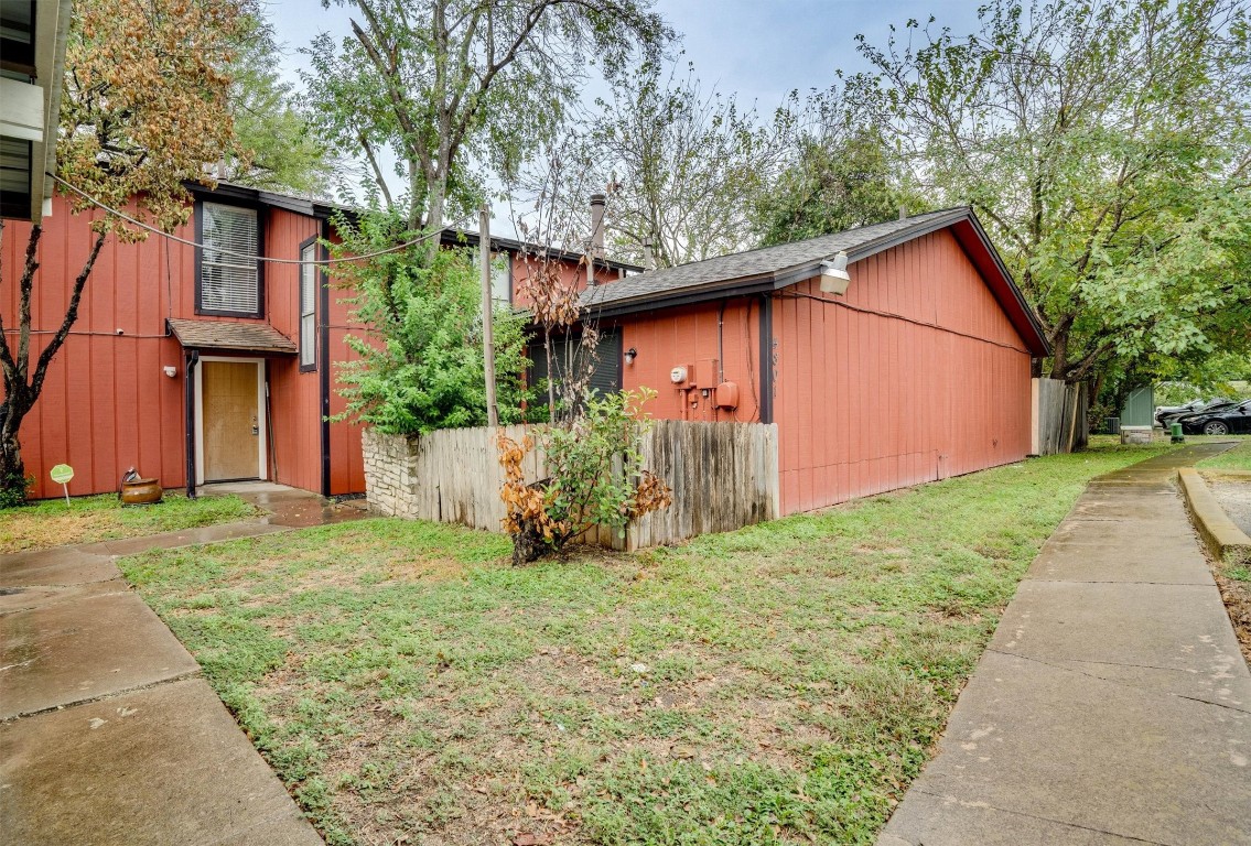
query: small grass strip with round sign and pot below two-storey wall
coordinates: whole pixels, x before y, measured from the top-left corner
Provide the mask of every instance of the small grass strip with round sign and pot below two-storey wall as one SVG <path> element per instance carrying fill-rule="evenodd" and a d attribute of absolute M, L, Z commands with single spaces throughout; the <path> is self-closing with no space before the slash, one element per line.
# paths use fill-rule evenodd
<path fill-rule="evenodd" d="M 176 491 L 165 491 L 164 501 L 156 505 L 124 506 L 116 494 L 73 497 L 68 506 L 65 500 L 41 500 L 0 509 L 0 554 L 156 535 L 258 514 L 238 496 L 189 500 Z"/>

